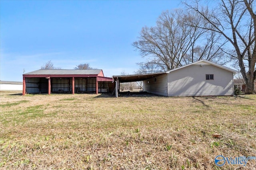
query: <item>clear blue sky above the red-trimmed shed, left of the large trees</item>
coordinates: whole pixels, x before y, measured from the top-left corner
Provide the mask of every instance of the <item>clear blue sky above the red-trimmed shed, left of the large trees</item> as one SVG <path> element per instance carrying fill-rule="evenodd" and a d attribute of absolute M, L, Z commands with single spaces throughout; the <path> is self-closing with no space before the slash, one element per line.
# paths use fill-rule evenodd
<path fill-rule="evenodd" d="M 0 80 L 22 81 L 51 60 L 73 69 L 90 63 L 105 76 L 134 74 L 143 61 L 132 43 L 143 26 L 154 26 L 170 1 L 0 0 Z"/>

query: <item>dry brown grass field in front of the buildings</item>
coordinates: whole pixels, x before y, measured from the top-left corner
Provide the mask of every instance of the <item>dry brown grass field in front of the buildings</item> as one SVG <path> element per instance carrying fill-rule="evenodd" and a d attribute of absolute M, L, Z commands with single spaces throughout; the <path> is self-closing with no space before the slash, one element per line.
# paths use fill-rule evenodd
<path fill-rule="evenodd" d="M 1 169 L 235 169 L 215 156 L 256 156 L 256 95 L 15 93 L 0 92 Z"/>

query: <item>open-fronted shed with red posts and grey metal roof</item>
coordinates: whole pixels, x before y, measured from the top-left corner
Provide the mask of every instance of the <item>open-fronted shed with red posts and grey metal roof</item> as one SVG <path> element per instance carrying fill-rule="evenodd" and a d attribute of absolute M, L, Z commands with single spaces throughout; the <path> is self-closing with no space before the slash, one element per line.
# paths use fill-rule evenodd
<path fill-rule="evenodd" d="M 112 78 L 102 70 L 36 70 L 23 74 L 26 93 L 113 92 Z"/>

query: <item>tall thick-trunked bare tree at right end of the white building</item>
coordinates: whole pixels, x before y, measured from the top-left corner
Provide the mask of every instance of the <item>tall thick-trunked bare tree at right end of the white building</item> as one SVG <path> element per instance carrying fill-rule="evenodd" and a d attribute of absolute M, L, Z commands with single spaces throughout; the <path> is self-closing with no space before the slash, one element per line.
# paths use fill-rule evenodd
<path fill-rule="evenodd" d="M 233 51 L 224 53 L 236 60 L 246 83 L 246 92 L 254 93 L 256 79 L 256 3 L 254 0 L 221 0 L 212 10 L 200 4 L 200 0 L 184 2 L 188 10 L 194 11 L 207 22 L 204 26 L 191 24 L 200 29 L 214 31 L 222 36 Z"/>

